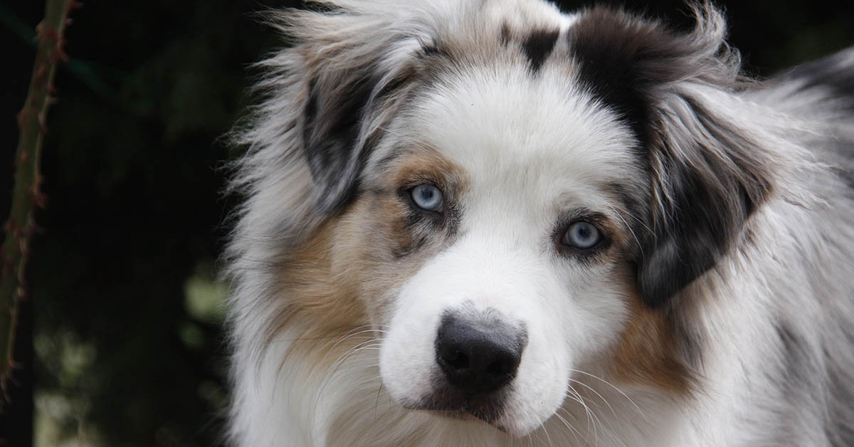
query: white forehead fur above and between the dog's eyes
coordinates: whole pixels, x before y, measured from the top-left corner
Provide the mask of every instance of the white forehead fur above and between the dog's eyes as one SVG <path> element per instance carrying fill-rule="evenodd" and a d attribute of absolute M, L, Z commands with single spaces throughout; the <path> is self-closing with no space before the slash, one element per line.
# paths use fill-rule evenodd
<path fill-rule="evenodd" d="M 641 180 L 635 138 L 568 72 L 470 68 L 414 104 L 407 132 L 465 168 L 475 194 L 503 185 L 547 214 L 578 197 L 605 200 L 601 185 Z"/>

